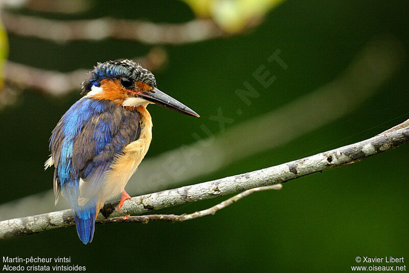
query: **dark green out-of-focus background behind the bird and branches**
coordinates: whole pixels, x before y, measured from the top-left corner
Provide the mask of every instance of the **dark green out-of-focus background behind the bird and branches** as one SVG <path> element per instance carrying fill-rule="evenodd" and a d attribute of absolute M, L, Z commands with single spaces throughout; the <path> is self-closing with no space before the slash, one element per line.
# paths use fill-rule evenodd
<path fill-rule="evenodd" d="M 409 118 L 409 18 L 406 1 L 296 1 L 272 9 L 260 26 L 239 35 L 183 45 L 163 45 L 169 61 L 155 72 L 158 87 L 186 103 L 201 119 L 148 109 L 154 119 L 147 157 L 194 142 L 193 131 L 222 107 L 236 116 L 243 103 L 234 91 L 275 49 L 287 70 L 271 63 L 277 80 L 232 125 L 260 116 L 310 93 L 342 73 L 374 37 L 402 43 L 406 57 L 392 78 L 348 115 L 301 138 L 239 160 L 194 184 L 261 169 L 372 137 Z M 22 13 L 48 18 L 143 19 L 183 22 L 194 18 L 180 1 L 95 3 L 80 15 Z M 97 61 L 144 55 L 151 45 L 105 39 L 58 44 L 9 34 L 12 61 L 47 70 L 90 69 Z M 75 91 L 55 98 L 33 90 L 0 111 L 0 198 L 2 202 L 52 188 L 50 133 L 80 98 Z M 257 133 L 257 132 L 249 132 Z M 279 192 L 257 193 L 214 216 L 178 224 L 98 225 L 94 241 L 83 245 L 75 227 L 0 240 L 2 256 L 71 257 L 87 271 L 350 271 L 356 256 L 409 259 L 409 146 L 365 161 L 286 183 Z M 170 208 L 190 213 L 225 197 Z M 54 200 L 50 200 L 54 202 Z M 367 264 L 371 265 L 371 264 Z M 403 264 L 399 264 L 403 265 Z M 406 263 L 409 265 L 409 263 Z M 3 266 L 3 265 L 2 265 Z"/>

